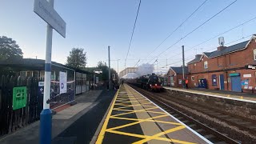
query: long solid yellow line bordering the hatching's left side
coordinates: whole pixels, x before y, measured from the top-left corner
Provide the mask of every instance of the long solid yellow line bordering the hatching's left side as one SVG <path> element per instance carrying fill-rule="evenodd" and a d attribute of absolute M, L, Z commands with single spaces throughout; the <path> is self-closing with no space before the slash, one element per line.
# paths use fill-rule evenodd
<path fill-rule="evenodd" d="M 108 124 L 108 122 L 109 122 L 109 120 L 110 120 L 110 115 L 111 115 L 111 113 L 112 113 L 112 110 L 113 110 L 113 108 L 114 108 L 115 100 L 118 98 L 119 90 L 120 90 L 120 89 L 118 89 L 118 92 L 117 92 L 117 93 L 115 94 L 115 96 L 114 96 L 114 102 L 112 103 L 112 106 L 110 107 L 110 111 L 109 111 L 109 113 L 108 113 L 107 116 L 106 116 L 105 122 L 104 122 L 104 124 L 103 124 L 103 126 L 102 126 L 102 130 L 101 130 L 101 132 L 100 132 L 99 135 L 98 135 L 98 138 L 97 138 L 97 141 L 96 141 L 97 144 L 102 143 L 102 141 L 103 141 L 104 135 L 105 135 L 105 133 L 106 133 L 106 127 L 107 127 L 107 124 Z"/>

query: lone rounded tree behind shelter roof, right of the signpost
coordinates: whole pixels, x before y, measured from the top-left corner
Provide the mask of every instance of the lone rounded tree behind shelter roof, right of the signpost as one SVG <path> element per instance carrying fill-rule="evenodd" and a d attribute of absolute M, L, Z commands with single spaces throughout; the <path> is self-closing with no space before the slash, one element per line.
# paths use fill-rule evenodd
<path fill-rule="evenodd" d="M 73 48 L 67 57 L 66 65 L 74 68 L 82 68 L 86 67 L 86 61 L 86 52 L 83 52 L 82 48 Z"/>

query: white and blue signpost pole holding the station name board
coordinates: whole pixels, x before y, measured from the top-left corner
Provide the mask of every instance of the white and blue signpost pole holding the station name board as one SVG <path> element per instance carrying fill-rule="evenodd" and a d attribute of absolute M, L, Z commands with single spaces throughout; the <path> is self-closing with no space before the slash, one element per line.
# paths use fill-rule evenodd
<path fill-rule="evenodd" d="M 50 3 L 51 6 L 54 7 L 54 0 L 48 0 L 48 2 Z M 52 37 L 53 37 L 53 28 L 52 26 L 47 24 L 43 110 L 40 114 L 40 144 L 51 143 L 52 113 L 50 110 L 50 104 L 47 101 L 50 99 Z"/>

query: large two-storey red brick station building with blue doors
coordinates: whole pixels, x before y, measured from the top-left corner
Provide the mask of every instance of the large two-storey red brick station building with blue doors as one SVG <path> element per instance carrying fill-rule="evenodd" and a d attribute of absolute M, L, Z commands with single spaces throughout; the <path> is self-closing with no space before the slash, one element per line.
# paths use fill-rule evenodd
<path fill-rule="evenodd" d="M 211 90 L 252 91 L 256 90 L 256 70 L 246 70 L 256 64 L 256 35 L 249 41 L 233 46 L 219 46 L 213 52 L 195 55 L 188 62 L 190 87 L 198 87 L 202 79 Z M 199 82 L 200 81 L 200 82 Z"/>

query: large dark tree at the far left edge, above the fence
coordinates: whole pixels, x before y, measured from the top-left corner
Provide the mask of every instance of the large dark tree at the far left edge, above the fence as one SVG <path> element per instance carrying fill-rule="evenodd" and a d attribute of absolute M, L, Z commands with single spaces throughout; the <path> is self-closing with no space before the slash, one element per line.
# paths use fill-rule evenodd
<path fill-rule="evenodd" d="M 6 36 L 0 36 L 0 60 L 17 60 L 23 58 L 22 49 L 16 41 Z"/>

